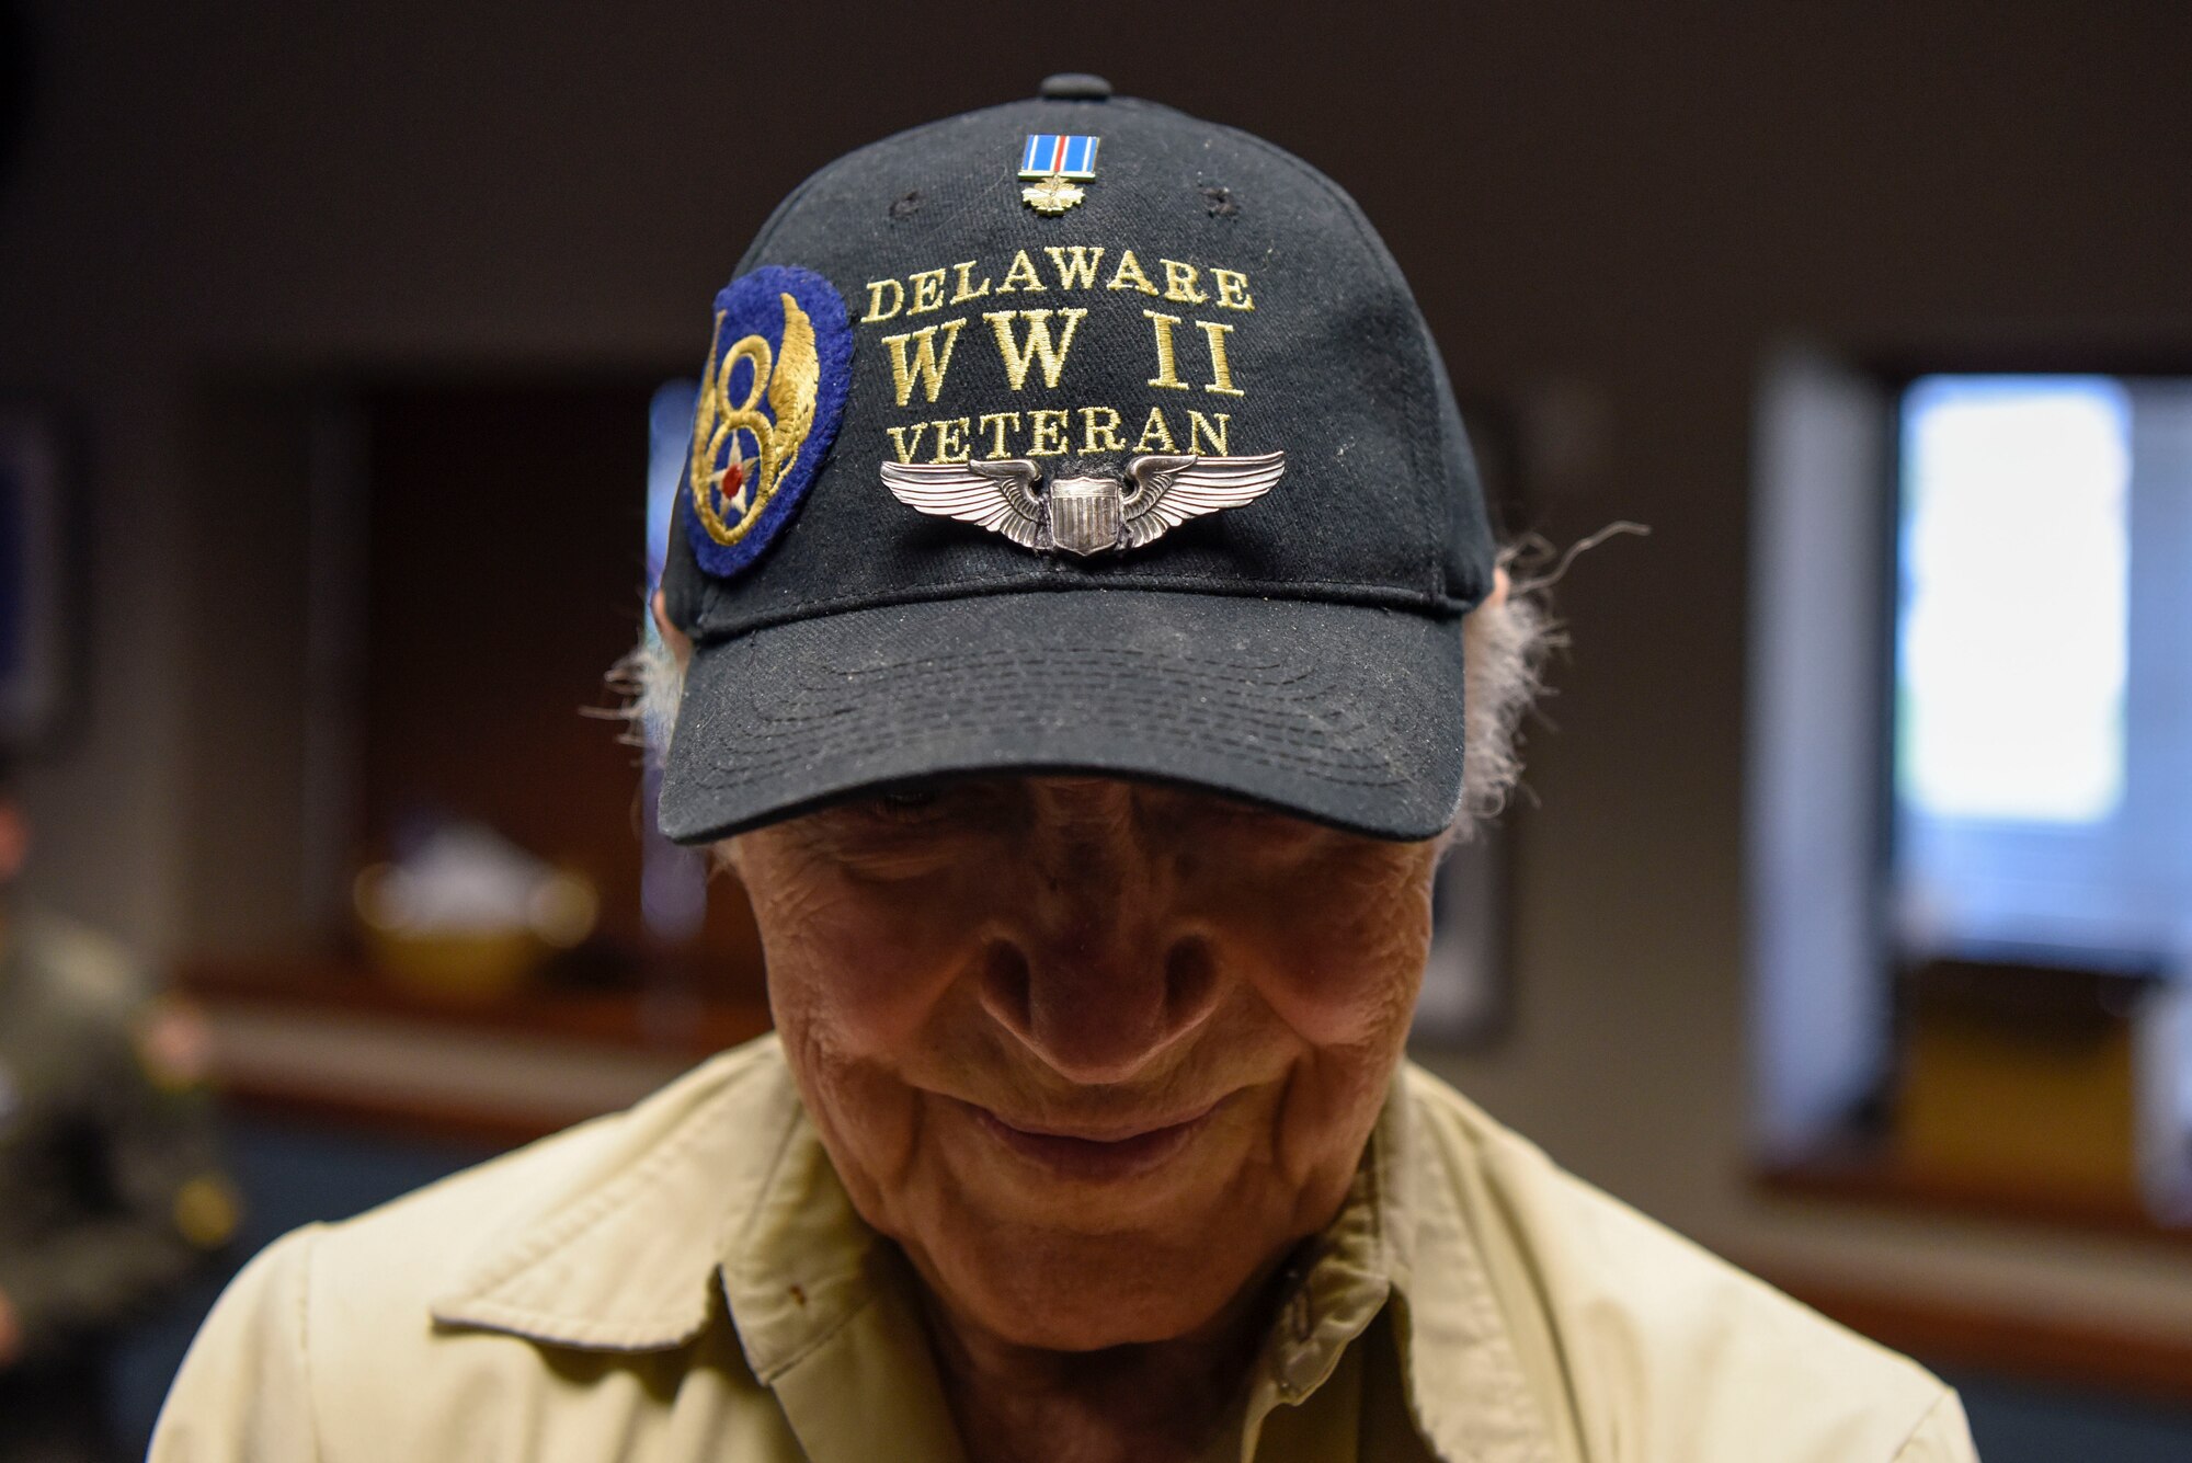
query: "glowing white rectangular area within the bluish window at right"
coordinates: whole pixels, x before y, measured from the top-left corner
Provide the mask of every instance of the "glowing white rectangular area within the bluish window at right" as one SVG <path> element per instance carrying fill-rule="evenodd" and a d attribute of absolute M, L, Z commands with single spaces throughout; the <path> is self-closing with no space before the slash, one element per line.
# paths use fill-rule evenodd
<path fill-rule="evenodd" d="M 2124 793 L 2131 410 L 2104 377 L 1931 377 L 1903 405 L 1896 791 L 2096 823 Z"/>

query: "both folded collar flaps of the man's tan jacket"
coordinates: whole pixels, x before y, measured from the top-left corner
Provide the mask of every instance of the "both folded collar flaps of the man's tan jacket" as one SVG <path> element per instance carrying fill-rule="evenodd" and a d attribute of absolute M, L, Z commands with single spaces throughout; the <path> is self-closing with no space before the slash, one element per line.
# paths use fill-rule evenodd
<path fill-rule="evenodd" d="M 1260 1419 L 1324 1384 L 1390 1303 L 1416 1430 L 1449 1461 L 1548 1463 L 1552 1437 L 1493 1297 L 1471 1213 L 1473 1154 L 1416 1121 L 1394 1075 L 1339 1216 L 1295 1259 L 1249 1389 Z M 853 1211 L 800 1106 L 774 1036 L 712 1058 L 592 1143 L 559 1185 L 469 1268 L 434 1318 L 546 1345 L 660 1351 L 730 1308 L 756 1380 L 787 1371 L 866 1318 L 903 1262 Z"/>

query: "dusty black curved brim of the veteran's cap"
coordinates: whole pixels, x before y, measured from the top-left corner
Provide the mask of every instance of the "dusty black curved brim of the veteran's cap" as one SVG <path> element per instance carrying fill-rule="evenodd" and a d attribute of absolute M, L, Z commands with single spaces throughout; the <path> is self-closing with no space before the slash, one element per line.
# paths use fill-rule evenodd
<path fill-rule="evenodd" d="M 1429 839 L 1462 788 L 1460 620 L 1114 589 L 750 631 L 693 655 L 662 832 L 706 843 L 958 773 L 1192 784 Z"/>

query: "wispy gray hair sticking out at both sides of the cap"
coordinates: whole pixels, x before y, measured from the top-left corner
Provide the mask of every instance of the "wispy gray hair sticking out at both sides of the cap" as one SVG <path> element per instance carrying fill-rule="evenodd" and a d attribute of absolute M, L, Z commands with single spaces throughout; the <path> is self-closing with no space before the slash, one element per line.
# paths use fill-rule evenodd
<path fill-rule="evenodd" d="M 1502 565 L 1510 554 L 1502 554 Z M 1565 644 L 1541 587 L 1486 600 L 1462 620 L 1462 797 L 1447 839 L 1466 843 L 1499 817 L 1521 782 L 1521 721 L 1545 688 L 1545 657 Z M 609 675 L 631 740 L 660 762 L 677 725 L 684 659 L 647 626 Z"/>

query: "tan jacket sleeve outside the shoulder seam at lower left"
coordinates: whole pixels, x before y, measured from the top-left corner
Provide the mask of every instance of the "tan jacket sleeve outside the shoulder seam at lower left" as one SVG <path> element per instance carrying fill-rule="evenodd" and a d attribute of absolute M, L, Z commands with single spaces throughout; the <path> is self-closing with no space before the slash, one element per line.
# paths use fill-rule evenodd
<path fill-rule="evenodd" d="M 307 1338 L 318 1229 L 270 1244 L 221 1292 L 167 1393 L 147 1463 L 318 1463 Z"/>

